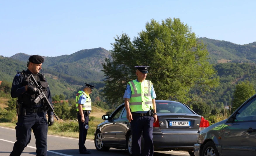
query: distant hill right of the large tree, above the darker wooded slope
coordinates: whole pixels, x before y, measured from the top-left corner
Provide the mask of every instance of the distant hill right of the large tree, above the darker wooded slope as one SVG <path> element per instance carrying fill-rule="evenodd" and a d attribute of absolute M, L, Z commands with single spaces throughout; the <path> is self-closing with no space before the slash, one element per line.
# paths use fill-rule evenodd
<path fill-rule="evenodd" d="M 239 45 L 206 37 L 198 38 L 198 40 L 203 40 L 207 44 L 211 58 L 209 59 L 210 63 L 226 63 L 228 61 L 256 63 L 256 42 Z"/>

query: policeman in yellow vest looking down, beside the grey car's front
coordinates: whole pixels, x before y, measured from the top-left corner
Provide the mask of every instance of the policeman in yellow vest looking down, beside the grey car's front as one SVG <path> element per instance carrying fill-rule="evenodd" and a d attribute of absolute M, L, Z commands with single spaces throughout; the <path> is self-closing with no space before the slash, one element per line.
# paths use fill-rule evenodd
<path fill-rule="evenodd" d="M 78 91 L 76 95 L 77 119 L 79 124 L 79 153 L 90 154 L 91 152 L 84 146 L 87 130 L 89 129 L 89 114 L 91 112 L 91 98 L 89 94 L 94 89 L 94 86 L 85 84 L 84 89 Z"/>

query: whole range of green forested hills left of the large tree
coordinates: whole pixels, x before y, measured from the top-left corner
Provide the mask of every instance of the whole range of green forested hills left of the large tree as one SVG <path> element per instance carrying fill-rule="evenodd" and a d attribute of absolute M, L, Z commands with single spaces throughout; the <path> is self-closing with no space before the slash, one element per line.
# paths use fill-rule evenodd
<path fill-rule="evenodd" d="M 30 55 L 24 53 L 15 54 L 11 58 L 0 56 L 0 81 L 12 82 L 17 72 L 27 69 L 29 57 Z M 104 73 L 101 72 L 101 63 L 105 58 L 110 58 L 110 53 L 104 48 L 80 50 L 71 55 L 44 57 L 43 72 L 52 94 L 72 97 L 84 83 L 90 83 L 97 89 L 102 88 L 105 84 L 102 82 Z"/>

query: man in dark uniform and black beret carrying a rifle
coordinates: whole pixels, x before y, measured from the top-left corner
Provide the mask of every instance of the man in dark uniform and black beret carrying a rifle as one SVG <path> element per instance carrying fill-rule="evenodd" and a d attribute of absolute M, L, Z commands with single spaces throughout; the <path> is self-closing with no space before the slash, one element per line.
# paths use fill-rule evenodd
<path fill-rule="evenodd" d="M 47 152 L 47 132 L 48 126 L 54 122 L 53 112 L 48 111 L 48 121 L 46 121 L 47 108 L 44 100 L 34 103 L 34 99 L 39 95 L 40 90 L 33 86 L 26 78 L 33 74 L 37 83 L 42 86 L 45 95 L 52 105 L 51 92 L 43 74 L 39 73 L 44 58 L 39 55 L 32 55 L 28 59 L 27 70 L 16 74 L 13 79 L 11 97 L 18 97 L 18 122 L 16 123 L 16 139 L 13 151 L 10 156 L 20 156 L 24 148 L 30 143 L 31 129 L 33 129 L 36 139 L 37 156 L 46 156 Z"/>

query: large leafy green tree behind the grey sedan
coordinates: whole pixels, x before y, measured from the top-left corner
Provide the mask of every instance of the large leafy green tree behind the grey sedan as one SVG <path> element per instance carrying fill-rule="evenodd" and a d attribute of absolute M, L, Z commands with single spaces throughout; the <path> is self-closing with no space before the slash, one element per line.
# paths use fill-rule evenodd
<path fill-rule="evenodd" d="M 147 79 L 153 82 L 157 98 L 190 101 L 189 90 L 201 93 L 218 85 L 214 68 L 207 61 L 208 52 L 196 34 L 178 18 L 161 23 L 151 20 L 146 30 L 131 41 L 127 34 L 115 38 L 110 50 L 113 61 L 103 64 L 108 102 L 121 104 L 126 85 L 136 79 L 134 66 L 150 66 Z"/>

